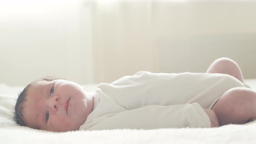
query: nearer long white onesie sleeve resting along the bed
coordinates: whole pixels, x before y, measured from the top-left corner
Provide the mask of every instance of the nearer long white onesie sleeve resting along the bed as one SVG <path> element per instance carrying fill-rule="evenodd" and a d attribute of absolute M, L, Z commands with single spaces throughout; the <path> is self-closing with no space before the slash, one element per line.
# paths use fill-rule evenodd
<path fill-rule="evenodd" d="M 210 119 L 198 103 L 184 105 L 148 105 L 122 111 L 88 130 L 210 128 Z"/>

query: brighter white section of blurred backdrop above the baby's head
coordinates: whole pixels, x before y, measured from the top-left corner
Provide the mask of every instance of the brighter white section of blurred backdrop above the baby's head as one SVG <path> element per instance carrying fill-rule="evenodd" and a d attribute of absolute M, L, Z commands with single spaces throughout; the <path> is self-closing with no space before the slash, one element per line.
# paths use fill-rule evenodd
<path fill-rule="evenodd" d="M 79 0 L 1 1 L 0 83 L 26 85 L 46 75 L 92 83 L 82 7 Z"/>

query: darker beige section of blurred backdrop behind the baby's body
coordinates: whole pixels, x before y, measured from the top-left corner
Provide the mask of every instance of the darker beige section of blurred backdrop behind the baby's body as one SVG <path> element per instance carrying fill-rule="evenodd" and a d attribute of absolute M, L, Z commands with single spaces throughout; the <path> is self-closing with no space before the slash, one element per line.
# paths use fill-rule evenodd
<path fill-rule="evenodd" d="M 256 1 L 94 1 L 95 82 L 137 71 L 205 72 L 230 57 L 256 78 Z"/>

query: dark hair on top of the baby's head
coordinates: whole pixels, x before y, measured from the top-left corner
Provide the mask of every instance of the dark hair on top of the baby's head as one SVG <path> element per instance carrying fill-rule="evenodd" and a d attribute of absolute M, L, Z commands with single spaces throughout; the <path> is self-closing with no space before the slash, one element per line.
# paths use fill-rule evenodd
<path fill-rule="evenodd" d="M 25 120 L 24 120 L 24 102 L 26 101 L 26 95 L 27 95 L 27 90 L 28 88 L 30 88 L 31 85 L 36 84 L 37 82 L 40 81 L 53 81 L 59 78 L 56 77 L 44 77 L 42 79 L 38 79 L 34 82 L 31 82 L 29 85 L 27 85 L 22 92 L 20 92 L 20 94 L 18 95 L 17 101 L 16 101 L 16 105 L 14 108 L 14 116 L 13 119 L 16 122 L 16 124 L 20 124 L 21 126 L 26 126 Z"/>

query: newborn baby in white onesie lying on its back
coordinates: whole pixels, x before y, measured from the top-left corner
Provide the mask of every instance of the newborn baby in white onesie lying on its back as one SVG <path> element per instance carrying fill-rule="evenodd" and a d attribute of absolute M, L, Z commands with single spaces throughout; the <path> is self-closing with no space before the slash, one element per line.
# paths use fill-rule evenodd
<path fill-rule="evenodd" d="M 14 120 L 46 131 L 213 128 L 256 119 L 256 92 L 231 59 L 206 73 L 137 72 L 89 94 L 75 82 L 44 78 L 20 93 Z"/>

